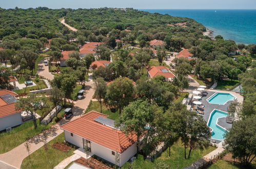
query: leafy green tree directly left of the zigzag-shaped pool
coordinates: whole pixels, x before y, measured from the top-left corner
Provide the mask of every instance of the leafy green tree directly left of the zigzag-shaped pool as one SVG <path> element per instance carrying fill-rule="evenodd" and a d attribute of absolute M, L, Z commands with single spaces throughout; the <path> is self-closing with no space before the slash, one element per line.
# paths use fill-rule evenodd
<path fill-rule="evenodd" d="M 178 132 L 184 143 L 184 157 L 190 157 L 192 149 L 196 146 L 208 146 L 211 137 L 210 129 L 201 116 L 195 112 L 190 112 L 186 109 L 173 111 L 171 114 L 173 128 Z M 186 155 L 187 147 L 190 147 L 188 157 Z"/>

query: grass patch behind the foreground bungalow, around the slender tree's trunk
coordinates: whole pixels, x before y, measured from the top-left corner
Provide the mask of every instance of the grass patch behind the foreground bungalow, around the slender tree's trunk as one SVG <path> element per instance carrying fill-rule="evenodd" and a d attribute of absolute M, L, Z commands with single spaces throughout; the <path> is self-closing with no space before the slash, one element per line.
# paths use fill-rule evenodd
<path fill-rule="evenodd" d="M 91 101 L 85 113 L 88 113 L 93 110 L 101 112 L 101 103 L 99 101 Z M 104 104 L 102 104 L 102 113 L 108 115 L 108 118 L 112 120 L 115 120 L 119 116 L 118 111 L 112 113 L 109 109 L 107 109 L 107 107 Z"/>

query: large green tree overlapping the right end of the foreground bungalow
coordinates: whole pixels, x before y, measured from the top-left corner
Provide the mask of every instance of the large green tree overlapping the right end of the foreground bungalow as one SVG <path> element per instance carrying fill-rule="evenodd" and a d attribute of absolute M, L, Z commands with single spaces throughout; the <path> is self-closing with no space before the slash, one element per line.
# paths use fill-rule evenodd
<path fill-rule="evenodd" d="M 123 113 L 115 121 L 115 125 L 120 127 L 128 136 L 131 133 L 136 135 L 137 154 L 139 154 L 140 139 L 143 137 L 143 143 L 146 147 L 150 147 L 147 151 L 152 151 L 158 141 L 155 137 L 157 125 L 154 122 L 157 116 L 163 114 L 162 110 L 156 105 L 151 105 L 147 101 L 136 100 L 131 102 L 124 108 Z M 159 118 L 157 118 L 159 119 Z M 158 122 L 161 120 L 157 120 Z M 161 121 L 162 122 L 162 121 Z M 146 149 L 144 149 L 146 151 Z M 149 153 L 146 153 L 149 154 Z M 144 157 L 146 156 L 144 154 Z"/>

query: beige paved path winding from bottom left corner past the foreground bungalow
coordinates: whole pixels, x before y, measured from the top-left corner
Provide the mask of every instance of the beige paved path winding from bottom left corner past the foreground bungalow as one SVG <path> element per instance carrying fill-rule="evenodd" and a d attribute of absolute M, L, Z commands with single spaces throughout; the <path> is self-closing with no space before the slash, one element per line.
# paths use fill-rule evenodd
<path fill-rule="evenodd" d="M 61 130 L 60 128 L 61 125 L 79 118 L 84 113 L 94 94 L 94 89 L 92 86 L 93 86 L 92 80 L 85 83 L 85 91 L 86 91 L 85 99 L 76 101 L 76 103 L 74 104 L 74 107 L 72 108 L 74 115 L 71 119 L 68 119 L 68 120 L 62 119 L 60 122 L 54 124 L 53 126 L 51 126 L 51 128 L 47 130 L 47 134 L 48 134 L 47 142 L 54 139 L 61 133 L 63 133 L 63 130 Z M 44 145 L 42 140 L 42 134 L 39 134 L 31 138 L 29 141 L 30 141 L 30 153 L 35 152 L 36 150 L 40 149 L 40 147 Z M 13 168 L 12 166 L 14 166 L 14 168 L 15 167 L 20 168 L 23 159 L 25 159 L 27 156 L 28 156 L 28 152 L 26 150 L 24 143 L 22 143 L 21 145 L 15 147 L 11 151 L 4 154 L 0 154 L 0 168 L 1 169 Z"/>

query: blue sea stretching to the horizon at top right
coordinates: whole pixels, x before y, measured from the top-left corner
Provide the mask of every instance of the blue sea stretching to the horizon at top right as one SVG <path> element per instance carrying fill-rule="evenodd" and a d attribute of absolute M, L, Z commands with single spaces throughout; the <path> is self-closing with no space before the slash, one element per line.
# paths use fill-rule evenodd
<path fill-rule="evenodd" d="M 253 8 L 253 7 L 252 7 Z M 189 17 L 236 43 L 256 44 L 256 9 L 142 9 L 151 13 Z M 216 11 L 216 12 L 215 12 Z"/>

